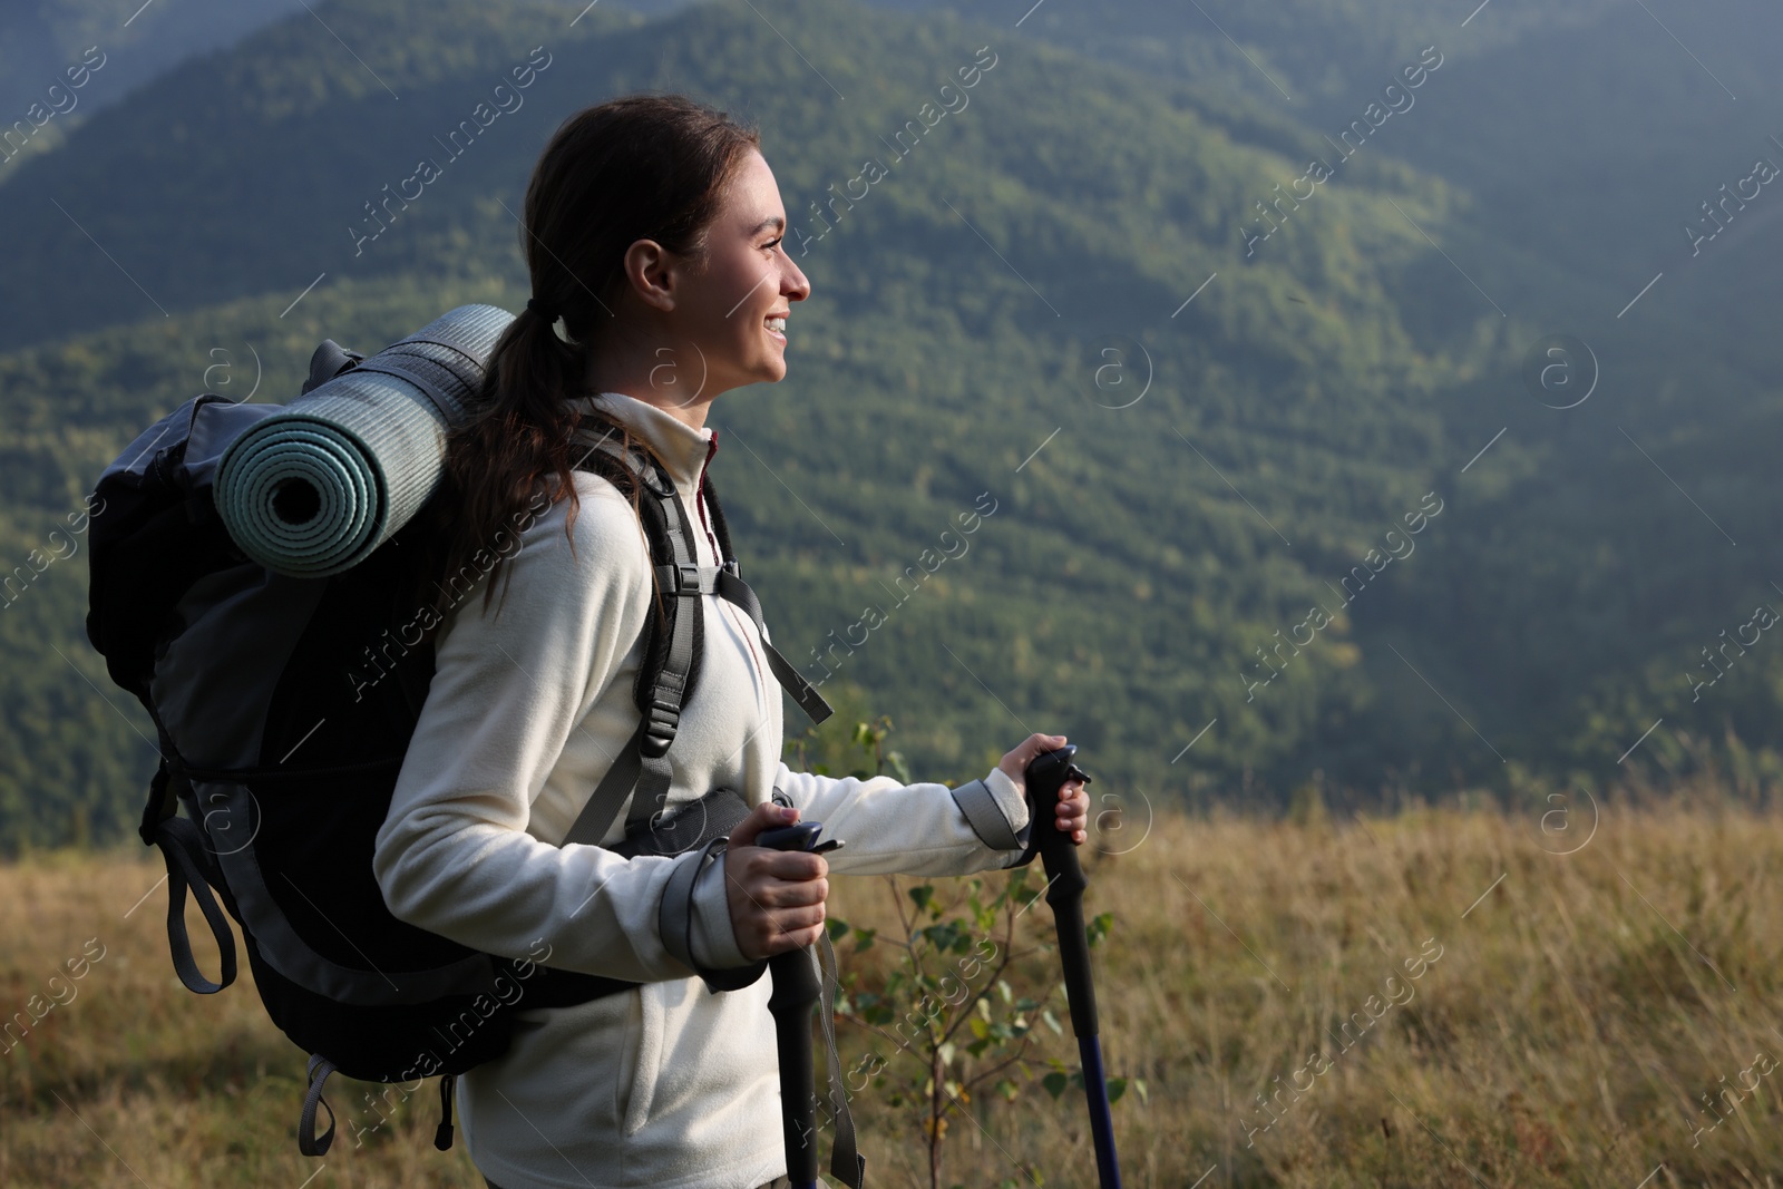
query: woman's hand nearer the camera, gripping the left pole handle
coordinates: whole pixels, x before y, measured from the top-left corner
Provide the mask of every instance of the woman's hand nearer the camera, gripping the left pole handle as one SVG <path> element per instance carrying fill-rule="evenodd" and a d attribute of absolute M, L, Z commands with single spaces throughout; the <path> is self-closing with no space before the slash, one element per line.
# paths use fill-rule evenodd
<path fill-rule="evenodd" d="M 797 820 L 797 809 L 761 802 L 731 831 L 731 841 L 724 849 L 731 931 L 736 934 L 736 948 L 752 963 L 802 950 L 824 934 L 824 898 L 829 895 L 829 863 L 824 856 L 754 845 L 761 831 Z"/>

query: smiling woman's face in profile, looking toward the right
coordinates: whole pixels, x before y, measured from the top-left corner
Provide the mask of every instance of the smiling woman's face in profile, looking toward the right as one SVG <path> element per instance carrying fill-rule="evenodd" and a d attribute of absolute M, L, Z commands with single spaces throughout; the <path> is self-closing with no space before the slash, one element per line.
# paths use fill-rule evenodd
<path fill-rule="evenodd" d="M 726 187 L 719 216 L 706 232 L 704 269 L 679 278 L 674 323 L 704 357 L 704 396 L 745 383 L 776 383 L 786 376 L 785 319 L 793 301 L 811 292 L 799 266 L 781 242 L 786 209 L 774 171 L 749 150 Z M 683 378 L 699 362 L 681 367 Z"/>

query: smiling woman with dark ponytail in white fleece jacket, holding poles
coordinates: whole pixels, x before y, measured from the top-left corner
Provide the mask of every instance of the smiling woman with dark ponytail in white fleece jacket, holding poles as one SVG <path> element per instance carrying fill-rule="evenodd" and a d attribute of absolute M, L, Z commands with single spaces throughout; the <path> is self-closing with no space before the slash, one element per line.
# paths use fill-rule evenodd
<path fill-rule="evenodd" d="M 508 1054 L 462 1078 L 464 1136 L 490 1185 L 783 1178 L 770 979 L 715 993 L 708 975 L 817 941 L 831 865 L 751 845 L 760 831 L 820 820 L 826 838 L 847 841 L 834 868 L 849 873 L 963 875 L 1022 856 L 981 840 L 943 784 L 788 770 L 763 640 L 710 595 L 681 611 L 704 617 L 704 660 L 669 749 L 669 802 L 729 786 L 749 818 L 715 861 L 620 857 L 608 847 L 624 838 L 622 816 L 599 847 L 560 845 L 638 724 L 638 642 L 656 597 L 631 501 L 574 469 L 601 442 L 581 419 L 620 428 L 626 442 L 601 449 L 656 456 L 694 521 L 699 563 L 717 565 L 706 410 L 720 392 L 786 374 L 785 319 L 809 294 L 781 244 L 785 207 L 758 146 L 756 132 L 681 96 L 567 119 L 526 193 L 533 299 L 449 444 L 458 519 L 446 572 L 487 556 L 510 524 L 521 545 L 497 553 L 481 599 L 472 590 L 442 608 L 435 677 L 378 834 L 378 881 L 423 929 L 510 957 L 549 947 L 547 966 L 638 984 L 572 1007 L 522 998 Z M 1007 820 L 993 836 L 1018 831 L 1025 847 L 1023 770 L 1063 742 L 1034 734 L 972 781 L 977 804 Z M 1086 815 L 1072 783 L 1048 825 L 1082 843 Z M 663 888 L 688 863 L 706 863 L 692 931 L 665 938 Z"/>

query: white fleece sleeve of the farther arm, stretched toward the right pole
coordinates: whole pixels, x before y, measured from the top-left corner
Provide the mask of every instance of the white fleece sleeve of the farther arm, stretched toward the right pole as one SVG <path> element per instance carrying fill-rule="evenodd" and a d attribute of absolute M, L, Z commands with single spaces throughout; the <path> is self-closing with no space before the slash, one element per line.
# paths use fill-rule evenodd
<path fill-rule="evenodd" d="M 959 788 L 890 775 L 827 777 L 781 763 L 774 786 L 799 820 L 847 845 L 826 856 L 838 875 L 970 875 L 1032 859 L 1022 790 L 1002 768 Z"/>

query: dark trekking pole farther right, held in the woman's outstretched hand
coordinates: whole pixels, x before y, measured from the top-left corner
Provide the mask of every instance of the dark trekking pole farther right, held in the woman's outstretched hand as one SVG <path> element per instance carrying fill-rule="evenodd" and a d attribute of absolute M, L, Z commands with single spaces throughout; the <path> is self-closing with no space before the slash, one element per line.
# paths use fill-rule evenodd
<path fill-rule="evenodd" d="M 1102 1189 L 1120 1189 L 1120 1164 L 1114 1159 L 1114 1119 L 1109 1116 L 1109 1087 L 1102 1073 L 1102 1039 L 1097 1036 L 1097 989 L 1089 982 L 1089 938 L 1084 934 L 1084 868 L 1077 863 L 1077 845 L 1057 829 L 1059 788 L 1068 779 L 1089 783 L 1072 758 L 1075 743 L 1041 752 L 1027 765 L 1025 784 L 1029 818 L 1039 831 L 1039 857 L 1047 865 L 1047 904 L 1059 931 L 1059 961 L 1064 964 L 1064 995 L 1072 1005 L 1072 1032 L 1084 1066 L 1084 1095 L 1089 1098 L 1089 1136 L 1097 1148 L 1097 1178 Z"/>

